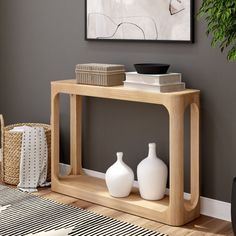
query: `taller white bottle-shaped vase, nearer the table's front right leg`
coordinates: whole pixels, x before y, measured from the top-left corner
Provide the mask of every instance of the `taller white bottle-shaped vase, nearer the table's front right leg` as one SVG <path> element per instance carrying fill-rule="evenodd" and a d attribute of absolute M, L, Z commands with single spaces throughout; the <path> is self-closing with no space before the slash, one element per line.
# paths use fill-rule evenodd
<path fill-rule="evenodd" d="M 156 155 L 156 144 L 149 143 L 148 157 L 137 167 L 139 192 L 146 200 L 159 200 L 166 191 L 168 170 L 166 164 Z"/>

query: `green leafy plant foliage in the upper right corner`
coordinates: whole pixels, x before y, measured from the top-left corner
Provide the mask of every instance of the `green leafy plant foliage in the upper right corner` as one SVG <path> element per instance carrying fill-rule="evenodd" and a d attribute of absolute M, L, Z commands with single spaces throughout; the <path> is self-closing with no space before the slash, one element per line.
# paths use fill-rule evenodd
<path fill-rule="evenodd" d="M 228 49 L 227 59 L 236 60 L 236 1 L 203 0 L 198 13 L 207 21 L 207 35 L 212 35 L 211 46 L 223 52 Z"/>

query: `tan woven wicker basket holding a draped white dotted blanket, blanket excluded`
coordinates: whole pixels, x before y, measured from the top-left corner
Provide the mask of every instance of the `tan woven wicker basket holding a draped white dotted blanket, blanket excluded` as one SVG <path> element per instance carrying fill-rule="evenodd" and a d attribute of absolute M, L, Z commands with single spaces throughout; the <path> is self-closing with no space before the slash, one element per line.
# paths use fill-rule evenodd
<path fill-rule="evenodd" d="M 3 116 L 0 115 L 1 120 L 1 146 L 2 146 L 2 163 L 1 177 L 2 181 L 7 184 L 17 185 L 19 183 L 20 172 L 20 156 L 22 133 L 9 132 L 17 126 L 27 125 L 30 127 L 43 127 L 45 130 L 48 146 L 48 171 L 47 180 L 51 179 L 51 128 L 50 125 L 40 123 L 18 123 L 4 126 Z"/>

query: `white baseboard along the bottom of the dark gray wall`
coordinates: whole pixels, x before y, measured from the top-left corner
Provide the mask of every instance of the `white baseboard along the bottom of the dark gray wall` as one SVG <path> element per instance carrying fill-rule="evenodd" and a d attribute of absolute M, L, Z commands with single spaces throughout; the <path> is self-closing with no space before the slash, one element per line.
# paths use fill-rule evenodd
<path fill-rule="evenodd" d="M 105 179 L 105 174 L 102 172 L 88 169 L 83 169 L 83 170 L 84 173 L 89 176 Z M 134 186 L 138 187 L 137 181 L 134 181 Z M 168 194 L 168 189 L 167 189 L 167 194 Z M 185 193 L 184 197 L 186 199 L 189 199 L 190 194 Z M 221 220 L 231 221 L 231 204 L 228 202 L 222 202 L 206 197 L 200 197 L 200 206 L 201 206 L 200 213 L 202 215 L 211 216 Z"/>

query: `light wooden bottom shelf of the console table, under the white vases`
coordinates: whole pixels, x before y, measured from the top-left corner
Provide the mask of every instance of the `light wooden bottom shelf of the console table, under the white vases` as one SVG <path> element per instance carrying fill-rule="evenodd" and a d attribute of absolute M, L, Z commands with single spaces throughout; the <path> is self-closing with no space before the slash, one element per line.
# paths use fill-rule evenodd
<path fill-rule="evenodd" d="M 169 197 L 159 201 L 147 201 L 140 197 L 136 188 L 125 198 L 114 198 L 109 195 L 103 179 L 70 175 L 52 180 L 52 190 L 65 195 L 104 205 L 130 214 L 169 224 Z M 186 200 L 186 203 L 188 201 Z"/>

